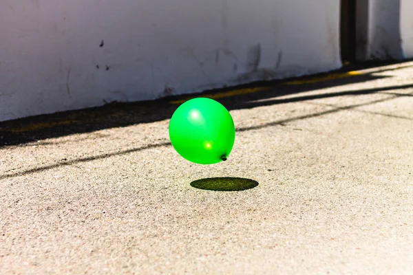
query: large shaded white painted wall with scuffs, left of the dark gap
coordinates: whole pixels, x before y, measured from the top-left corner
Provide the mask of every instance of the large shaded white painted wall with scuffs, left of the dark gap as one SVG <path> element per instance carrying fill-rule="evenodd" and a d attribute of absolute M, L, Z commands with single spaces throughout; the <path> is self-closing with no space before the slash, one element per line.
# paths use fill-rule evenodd
<path fill-rule="evenodd" d="M 0 2 L 0 121 L 340 66 L 339 0 Z"/>

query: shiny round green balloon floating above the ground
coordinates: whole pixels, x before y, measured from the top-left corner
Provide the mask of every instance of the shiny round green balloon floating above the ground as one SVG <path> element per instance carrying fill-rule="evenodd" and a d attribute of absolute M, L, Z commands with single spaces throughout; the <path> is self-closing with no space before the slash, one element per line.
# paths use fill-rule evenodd
<path fill-rule="evenodd" d="M 231 114 L 211 98 L 193 98 L 184 102 L 169 122 L 173 148 L 185 159 L 197 164 L 215 164 L 226 160 L 235 142 Z"/>

